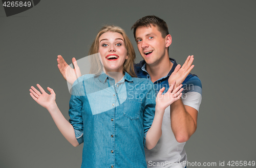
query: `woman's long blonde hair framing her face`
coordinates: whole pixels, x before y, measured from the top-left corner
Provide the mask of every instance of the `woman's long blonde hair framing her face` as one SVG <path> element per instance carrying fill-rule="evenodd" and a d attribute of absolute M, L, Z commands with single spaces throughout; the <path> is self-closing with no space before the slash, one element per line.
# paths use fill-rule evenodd
<path fill-rule="evenodd" d="M 99 37 L 106 32 L 114 32 L 114 33 L 120 33 L 123 36 L 124 39 L 124 44 L 125 48 L 127 50 L 127 55 L 128 59 L 126 59 L 123 63 L 123 72 L 127 72 L 130 74 L 132 77 L 137 77 L 135 72 L 134 72 L 134 60 L 135 60 L 135 51 L 133 48 L 133 45 L 130 41 L 130 39 L 127 37 L 126 33 L 121 27 L 115 26 L 115 25 L 105 25 L 103 26 L 100 30 L 99 33 L 97 34 L 90 50 L 89 50 L 89 55 L 98 53 L 99 50 Z M 103 66 L 100 63 L 99 57 L 91 57 L 91 70 L 90 73 L 94 73 L 96 75 L 101 74 L 103 70 Z"/>

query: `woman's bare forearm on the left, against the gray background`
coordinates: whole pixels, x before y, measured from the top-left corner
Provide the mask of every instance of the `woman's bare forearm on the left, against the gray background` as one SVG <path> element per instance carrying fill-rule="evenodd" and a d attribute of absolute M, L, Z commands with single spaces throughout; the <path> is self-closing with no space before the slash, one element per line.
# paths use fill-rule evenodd
<path fill-rule="evenodd" d="M 74 128 L 62 115 L 56 102 L 50 105 L 47 109 L 61 134 L 68 140 L 68 142 L 70 142 L 70 144 L 77 147 L 79 143 L 76 140 Z"/>

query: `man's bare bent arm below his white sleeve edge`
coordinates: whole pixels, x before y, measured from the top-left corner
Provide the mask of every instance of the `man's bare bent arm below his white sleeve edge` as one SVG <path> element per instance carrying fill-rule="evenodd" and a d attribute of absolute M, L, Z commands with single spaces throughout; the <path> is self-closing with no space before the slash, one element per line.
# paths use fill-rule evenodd
<path fill-rule="evenodd" d="M 186 142 L 197 129 L 197 110 L 185 108 L 181 99 L 170 105 L 170 120 L 174 136 L 179 143 Z M 193 113 L 193 117 L 190 115 Z"/>

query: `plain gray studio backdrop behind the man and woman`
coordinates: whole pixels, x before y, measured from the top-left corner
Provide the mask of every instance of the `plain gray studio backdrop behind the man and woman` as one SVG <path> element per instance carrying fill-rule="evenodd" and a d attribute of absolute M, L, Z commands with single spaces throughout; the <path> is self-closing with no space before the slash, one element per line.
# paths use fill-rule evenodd
<path fill-rule="evenodd" d="M 255 7 L 252 0 L 42 0 L 10 17 L 0 7 L 0 167 L 80 167 L 82 146 L 68 143 L 29 89 L 36 83 L 53 88 L 69 119 L 70 94 L 57 55 L 69 64 L 85 57 L 100 27 L 113 23 L 126 31 L 139 62 L 130 29 L 153 14 L 169 26 L 170 57 L 183 64 L 194 54 L 192 73 L 203 85 L 198 128 L 185 145 L 188 161 L 256 161 Z"/>

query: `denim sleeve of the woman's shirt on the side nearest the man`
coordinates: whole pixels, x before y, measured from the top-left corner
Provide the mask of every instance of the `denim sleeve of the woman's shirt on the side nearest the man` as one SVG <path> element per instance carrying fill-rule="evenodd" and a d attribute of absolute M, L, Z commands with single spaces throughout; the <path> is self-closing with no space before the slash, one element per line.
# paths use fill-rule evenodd
<path fill-rule="evenodd" d="M 150 129 L 154 117 L 155 117 L 155 107 L 156 107 L 156 90 L 152 81 L 148 80 L 147 83 L 148 93 L 146 94 L 146 103 L 143 116 L 143 128 L 144 128 L 144 148 L 146 148 L 146 134 L 148 129 Z"/>

